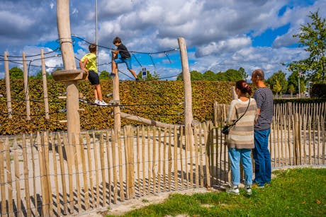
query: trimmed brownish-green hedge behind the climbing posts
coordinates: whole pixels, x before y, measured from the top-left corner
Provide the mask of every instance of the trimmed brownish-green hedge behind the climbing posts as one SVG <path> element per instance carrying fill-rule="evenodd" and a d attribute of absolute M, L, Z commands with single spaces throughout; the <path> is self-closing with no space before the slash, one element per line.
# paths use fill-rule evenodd
<path fill-rule="evenodd" d="M 26 120 L 26 102 L 24 101 L 23 80 L 11 81 L 11 98 L 13 118 L 7 115 L 6 85 L 0 80 L 0 134 L 30 134 L 35 131 L 64 131 L 67 124 L 59 121 L 66 118 L 65 112 L 58 112 L 65 108 L 65 100 L 58 96 L 65 95 L 64 83 L 47 81 L 49 95 L 50 119 L 45 119 L 43 84 L 41 80 L 28 82 L 30 94 L 31 120 Z M 193 117 L 199 122 L 213 120 L 213 103 L 230 103 L 230 88 L 235 83 L 221 81 L 193 81 Z M 94 90 L 89 81 L 78 83 L 81 98 L 94 102 Z M 108 102 L 112 96 L 112 81 L 102 80 L 101 88 L 103 100 Z M 120 81 L 121 112 L 138 115 L 147 119 L 154 119 L 169 124 L 182 124 L 184 119 L 184 83 L 183 81 Z M 98 107 L 79 102 L 79 107 L 85 112 L 80 113 L 81 130 L 110 129 L 113 127 L 113 107 Z M 139 123 L 121 119 L 121 124 Z"/>

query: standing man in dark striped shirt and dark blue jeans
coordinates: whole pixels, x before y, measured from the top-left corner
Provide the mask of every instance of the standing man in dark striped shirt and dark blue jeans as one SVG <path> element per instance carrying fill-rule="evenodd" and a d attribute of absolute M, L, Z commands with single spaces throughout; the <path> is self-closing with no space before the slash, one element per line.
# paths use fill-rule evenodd
<path fill-rule="evenodd" d="M 269 133 L 273 119 L 273 93 L 264 83 L 264 71 L 252 72 L 252 84 L 257 88 L 254 99 L 257 102 L 257 119 L 254 124 L 254 184 L 264 187 L 271 182 L 271 155 L 269 153 Z"/>

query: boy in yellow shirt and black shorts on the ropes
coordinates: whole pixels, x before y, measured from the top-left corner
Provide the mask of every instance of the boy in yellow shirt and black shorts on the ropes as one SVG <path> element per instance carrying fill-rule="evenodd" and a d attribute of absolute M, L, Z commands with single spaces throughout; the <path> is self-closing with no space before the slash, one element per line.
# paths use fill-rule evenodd
<path fill-rule="evenodd" d="M 98 70 L 96 67 L 96 45 L 89 45 L 89 54 L 85 54 L 83 58 L 79 61 L 79 66 L 81 70 L 86 71 L 89 76 L 89 81 L 94 85 L 94 95 L 96 105 L 108 105 L 102 99 L 102 90 L 100 85 L 100 78 Z"/>

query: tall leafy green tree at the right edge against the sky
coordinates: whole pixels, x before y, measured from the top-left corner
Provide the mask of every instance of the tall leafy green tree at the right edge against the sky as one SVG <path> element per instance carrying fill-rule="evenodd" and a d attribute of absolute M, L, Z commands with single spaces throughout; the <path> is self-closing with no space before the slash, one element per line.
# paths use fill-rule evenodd
<path fill-rule="evenodd" d="M 293 61 L 288 64 L 289 71 L 300 71 L 306 74 L 314 83 L 326 82 L 326 20 L 320 18 L 318 11 L 310 12 L 312 22 L 301 25 L 298 37 L 299 47 L 309 53 L 307 59 Z"/>

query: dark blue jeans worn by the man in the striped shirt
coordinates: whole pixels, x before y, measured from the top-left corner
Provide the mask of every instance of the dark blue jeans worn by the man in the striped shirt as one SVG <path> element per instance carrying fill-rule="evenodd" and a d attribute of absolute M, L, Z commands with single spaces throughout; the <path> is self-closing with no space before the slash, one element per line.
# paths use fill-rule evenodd
<path fill-rule="evenodd" d="M 260 185 L 271 182 L 271 154 L 269 153 L 269 133 L 271 129 L 254 131 L 254 182 Z"/>

